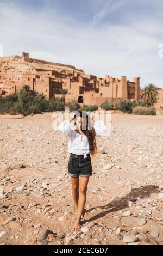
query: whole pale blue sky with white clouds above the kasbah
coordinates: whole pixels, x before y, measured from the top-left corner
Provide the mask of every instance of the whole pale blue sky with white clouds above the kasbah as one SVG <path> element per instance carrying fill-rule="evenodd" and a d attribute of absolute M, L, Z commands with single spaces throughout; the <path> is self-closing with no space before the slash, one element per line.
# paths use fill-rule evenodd
<path fill-rule="evenodd" d="M 0 44 L 3 56 L 28 52 L 163 89 L 162 14 L 162 0 L 0 0 Z"/>

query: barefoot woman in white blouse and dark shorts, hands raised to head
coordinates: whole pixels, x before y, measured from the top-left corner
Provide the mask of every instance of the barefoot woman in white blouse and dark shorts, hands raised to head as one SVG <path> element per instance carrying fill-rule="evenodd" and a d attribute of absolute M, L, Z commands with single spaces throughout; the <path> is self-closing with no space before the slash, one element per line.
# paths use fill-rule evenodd
<path fill-rule="evenodd" d="M 78 111 L 73 118 L 63 121 L 58 129 L 69 137 L 68 152 L 71 154 L 68 174 L 71 178 L 72 197 L 77 210 L 73 230 L 78 230 L 85 210 L 87 184 L 92 175 L 90 155 L 95 156 L 96 136 L 102 136 L 106 132 L 106 126 L 103 121 L 95 121 L 89 112 Z"/>

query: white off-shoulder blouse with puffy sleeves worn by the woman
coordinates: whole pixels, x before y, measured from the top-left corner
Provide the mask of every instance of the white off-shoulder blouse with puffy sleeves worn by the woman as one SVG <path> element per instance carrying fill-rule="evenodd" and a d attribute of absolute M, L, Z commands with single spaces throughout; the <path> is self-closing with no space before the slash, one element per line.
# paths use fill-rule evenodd
<path fill-rule="evenodd" d="M 107 131 L 103 121 L 95 121 L 93 125 L 96 135 L 103 136 Z M 75 131 L 75 127 L 68 120 L 63 121 L 58 130 L 61 131 L 65 136 L 69 136 L 68 141 L 68 152 L 76 155 L 84 155 L 86 158 L 87 154 L 90 153 L 89 142 L 86 135 L 80 135 Z"/>

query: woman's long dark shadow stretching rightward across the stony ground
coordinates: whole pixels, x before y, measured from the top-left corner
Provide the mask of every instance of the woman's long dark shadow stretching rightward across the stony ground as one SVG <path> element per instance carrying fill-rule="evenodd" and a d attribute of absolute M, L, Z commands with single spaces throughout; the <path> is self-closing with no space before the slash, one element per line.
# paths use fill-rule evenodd
<path fill-rule="evenodd" d="M 89 210 L 86 210 L 85 212 L 90 212 L 96 208 L 109 209 L 108 211 L 106 210 L 106 211 L 99 212 L 99 214 L 97 214 L 87 220 L 83 220 L 82 224 L 84 224 L 85 222 L 95 221 L 98 218 L 103 217 L 111 212 L 116 212 L 116 211 L 120 211 L 122 209 L 128 208 L 128 205 L 127 205 L 128 200 L 136 202 L 137 199 L 135 199 L 135 198 L 137 198 L 137 197 L 139 197 L 140 199 L 148 198 L 151 193 L 159 193 L 160 191 L 161 190 L 159 190 L 159 186 L 155 186 L 155 185 L 147 185 L 147 186 L 141 186 L 139 188 L 132 188 L 131 192 L 129 194 L 127 194 L 126 196 L 121 198 L 121 201 L 111 202 L 111 203 L 103 205 L 103 206 L 101 206 L 101 205 L 95 206 Z"/>

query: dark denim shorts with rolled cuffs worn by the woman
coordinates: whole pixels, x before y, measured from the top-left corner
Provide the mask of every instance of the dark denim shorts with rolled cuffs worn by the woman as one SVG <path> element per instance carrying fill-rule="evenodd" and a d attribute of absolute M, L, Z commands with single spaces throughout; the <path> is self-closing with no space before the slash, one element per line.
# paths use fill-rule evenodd
<path fill-rule="evenodd" d="M 90 154 L 86 155 L 70 154 L 68 161 L 68 174 L 72 177 L 89 177 L 92 175 L 92 163 Z"/>

